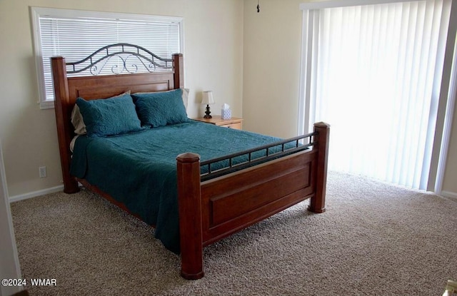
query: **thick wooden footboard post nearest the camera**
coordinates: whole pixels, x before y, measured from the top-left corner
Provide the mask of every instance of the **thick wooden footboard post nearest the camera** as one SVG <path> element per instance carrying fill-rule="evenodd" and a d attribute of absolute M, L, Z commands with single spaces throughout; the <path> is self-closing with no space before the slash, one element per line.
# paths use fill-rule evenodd
<path fill-rule="evenodd" d="M 178 155 L 178 206 L 181 275 L 186 280 L 204 276 L 201 225 L 200 155 Z"/>

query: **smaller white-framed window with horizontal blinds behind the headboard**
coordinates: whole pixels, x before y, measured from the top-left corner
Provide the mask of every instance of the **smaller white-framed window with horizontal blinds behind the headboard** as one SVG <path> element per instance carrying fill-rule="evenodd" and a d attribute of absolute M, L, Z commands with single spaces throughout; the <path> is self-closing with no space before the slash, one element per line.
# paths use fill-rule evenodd
<path fill-rule="evenodd" d="M 39 7 L 32 7 L 31 15 L 41 108 L 54 107 L 51 56 L 75 62 L 103 46 L 118 43 L 136 44 L 164 58 L 183 52 L 180 17 Z M 104 74 L 108 73 L 99 73 Z"/>

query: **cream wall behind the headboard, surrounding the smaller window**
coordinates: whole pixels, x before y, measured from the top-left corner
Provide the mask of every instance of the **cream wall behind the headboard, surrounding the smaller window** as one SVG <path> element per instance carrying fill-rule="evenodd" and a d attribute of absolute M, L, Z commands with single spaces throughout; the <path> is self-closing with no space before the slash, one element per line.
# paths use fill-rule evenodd
<path fill-rule="evenodd" d="M 201 91 L 242 116 L 242 0 L 1 0 L 0 137 L 10 197 L 61 185 L 54 109 L 40 110 L 29 6 L 184 17 L 185 86 L 189 116 L 201 116 Z M 39 178 L 46 166 L 47 178 Z"/>

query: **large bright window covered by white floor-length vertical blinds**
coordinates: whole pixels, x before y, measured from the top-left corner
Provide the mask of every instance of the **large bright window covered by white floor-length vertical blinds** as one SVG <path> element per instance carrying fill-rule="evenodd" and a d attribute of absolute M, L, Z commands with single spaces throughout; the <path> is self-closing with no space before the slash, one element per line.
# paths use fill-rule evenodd
<path fill-rule="evenodd" d="M 451 1 L 326 1 L 301 9 L 298 128 L 331 124 L 329 169 L 437 191 L 431 172 L 448 112 L 441 106 L 453 99 Z"/>

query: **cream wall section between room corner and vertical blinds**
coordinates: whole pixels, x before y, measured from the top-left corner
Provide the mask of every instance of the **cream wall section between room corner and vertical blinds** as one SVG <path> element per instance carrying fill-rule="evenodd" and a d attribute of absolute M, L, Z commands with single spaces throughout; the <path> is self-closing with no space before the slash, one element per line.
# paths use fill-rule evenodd
<path fill-rule="evenodd" d="M 244 1 L 243 128 L 297 133 L 303 0 Z"/>

